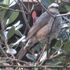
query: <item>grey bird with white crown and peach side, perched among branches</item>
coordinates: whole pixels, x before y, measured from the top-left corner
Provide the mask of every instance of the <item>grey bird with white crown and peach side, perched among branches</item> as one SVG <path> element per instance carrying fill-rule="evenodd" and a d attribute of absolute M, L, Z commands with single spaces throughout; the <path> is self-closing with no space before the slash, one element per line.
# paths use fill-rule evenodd
<path fill-rule="evenodd" d="M 26 45 L 24 50 L 30 49 L 35 43 L 41 42 L 43 44 L 51 43 L 51 40 L 58 37 L 61 29 L 61 17 L 56 17 L 59 13 L 59 5 L 52 3 L 48 6 L 47 10 L 41 14 L 40 17 L 34 22 L 27 35 Z M 21 57 L 18 57 L 21 59 Z"/>

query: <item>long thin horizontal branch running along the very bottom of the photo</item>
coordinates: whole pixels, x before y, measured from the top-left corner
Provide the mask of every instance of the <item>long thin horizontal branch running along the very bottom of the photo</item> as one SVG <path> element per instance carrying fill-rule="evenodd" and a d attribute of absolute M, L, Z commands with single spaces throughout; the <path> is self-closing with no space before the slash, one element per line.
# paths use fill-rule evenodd
<path fill-rule="evenodd" d="M 5 67 L 18 67 L 18 68 L 52 68 L 52 69 L 58 69 L 58 68 L 61 68 L 63 69 L 64 66 L 47 66 L 47 65 L 31 65 L 31 66 L 25 66 L 25 65 L 21 65 L 21 66 L 17 66 L 17 65 L 0 65 L 0 68 L 5 68 Z M 68 69 L 70 69 L 70 66 L 67 66 Z"/>

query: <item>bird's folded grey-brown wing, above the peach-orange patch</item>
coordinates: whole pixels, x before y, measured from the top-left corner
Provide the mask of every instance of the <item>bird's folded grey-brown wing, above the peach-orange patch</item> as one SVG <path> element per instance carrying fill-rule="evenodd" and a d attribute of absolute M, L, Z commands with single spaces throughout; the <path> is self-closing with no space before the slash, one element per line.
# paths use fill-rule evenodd
<path fill-rule="evenodd" d="M 44 12 L 34 23 L 35 25 L 32 26 L 32 28 L 28 32 L 28 38 L 31 38 L 34 34 L 37 33 L 38 30 L 40 30 L 43 26 L 48 24 L 48 21 L 50 20 L 50 15 L 47 12 Z"/>

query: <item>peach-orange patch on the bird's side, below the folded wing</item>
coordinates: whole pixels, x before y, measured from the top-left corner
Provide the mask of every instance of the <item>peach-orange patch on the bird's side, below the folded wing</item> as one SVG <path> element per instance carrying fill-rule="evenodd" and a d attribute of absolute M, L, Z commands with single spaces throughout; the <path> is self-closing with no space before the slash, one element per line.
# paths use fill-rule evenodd
<path fill-rule="evenodd" d="M 52 23 L 45 25 L 44 27 L 42 27 L 37 33 L 36 33 L 36 37 L 38 40 L 42 40 L 44 38 L 47 37 L 47 35 L 49 34 L 50 30 L 51 30 L 51 26 Z"/>

